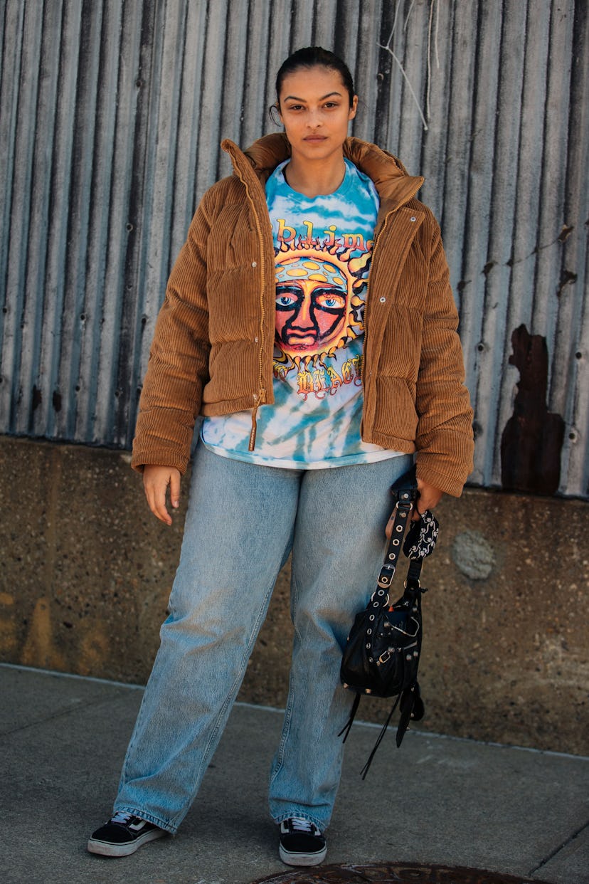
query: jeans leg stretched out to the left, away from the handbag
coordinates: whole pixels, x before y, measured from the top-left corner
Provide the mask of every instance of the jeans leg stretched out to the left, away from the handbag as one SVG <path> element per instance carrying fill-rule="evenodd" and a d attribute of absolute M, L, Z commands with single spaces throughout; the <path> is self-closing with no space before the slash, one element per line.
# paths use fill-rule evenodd
<path fill-rule="evenodd" d="M 170 616 L 127 750 L 115 810 L 175 833 L 237 696 L 291 546 L 298 470 L 197 448 Z"/>

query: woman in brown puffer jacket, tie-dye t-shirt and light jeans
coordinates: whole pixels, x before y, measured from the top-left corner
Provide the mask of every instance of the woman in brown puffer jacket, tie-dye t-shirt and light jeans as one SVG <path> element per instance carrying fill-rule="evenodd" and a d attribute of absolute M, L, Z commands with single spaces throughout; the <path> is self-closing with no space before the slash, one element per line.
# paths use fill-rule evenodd
<path fill-rule="evenodd" d="M 319 48 L 276 80 L 283 134 L 211 187 L 155 329 L 132 465 L 162 522 L 193 461 L 170 616 L 121 776 L 88 849 L 127 856 L 174 834 L 238 693 L 292 552 L 295 627 L 269 807 L 280 857 L 315 865 L 353 695 L 342 648 L 383 555 L 390 485 L 417 462 L 419 509 L 459 495 L 472 412 L 439 228 L 420 178 L 347 137 L 358 97 Z"/>

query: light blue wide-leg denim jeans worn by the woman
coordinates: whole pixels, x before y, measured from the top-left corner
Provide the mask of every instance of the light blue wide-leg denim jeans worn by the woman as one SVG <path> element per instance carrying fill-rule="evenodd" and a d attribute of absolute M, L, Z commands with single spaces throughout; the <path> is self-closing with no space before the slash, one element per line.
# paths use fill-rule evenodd
<path fill-rule="evenodd" d="M 269 807 L 276 822 L 299 816 L 321 830 L 328 826 L 343 758 L 338 733 L 353 701 L 339 680 L 342 648 L 381 568 L 389 486 L 411 464 L 403 455 L 335 469 L 280 469 L 198 446 L 170 616 L 116 811 L 176 833 L 292 550 L 291 679 Z"/>

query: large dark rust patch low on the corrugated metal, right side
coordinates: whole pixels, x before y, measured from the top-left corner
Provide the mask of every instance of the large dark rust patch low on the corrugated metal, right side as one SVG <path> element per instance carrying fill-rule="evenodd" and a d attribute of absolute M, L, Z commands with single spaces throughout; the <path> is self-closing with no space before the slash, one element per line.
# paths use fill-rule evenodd
<path fill-rule="evenodd" d="M 548 411 L 546 338 L 520 325 L 511 335 L 510 364 L 519 370 L 513 415 L 501 439 L 501 479 L 506 490 L 554 494 L 561 476 L 564 421 Z"/>

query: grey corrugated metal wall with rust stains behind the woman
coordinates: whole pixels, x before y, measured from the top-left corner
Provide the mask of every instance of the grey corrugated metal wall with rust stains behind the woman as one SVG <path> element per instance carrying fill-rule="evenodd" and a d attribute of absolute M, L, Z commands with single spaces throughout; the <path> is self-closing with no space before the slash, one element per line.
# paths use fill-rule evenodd
<path fill-rule="evenodd" d="M 555 490 L 509 467 L 542 437 L 532 460 L 589 494 L 585 0 L 4 0 L 0 23 L 0 431 L 130 445 L 218 142 L 276 131 L 276 69 L 319 43 L 355 73 L 354 134 L 427 177 L 472 483 Z"/>

